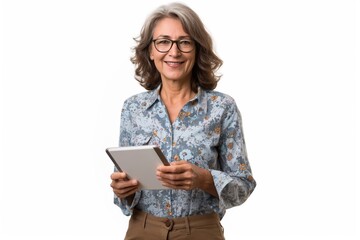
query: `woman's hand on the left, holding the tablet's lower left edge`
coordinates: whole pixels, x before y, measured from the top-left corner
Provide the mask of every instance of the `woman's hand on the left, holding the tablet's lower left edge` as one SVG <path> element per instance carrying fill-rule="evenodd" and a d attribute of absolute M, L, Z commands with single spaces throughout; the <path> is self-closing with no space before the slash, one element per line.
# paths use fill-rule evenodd
<path fill-rule="evenodd" d="M 137 180 L 129 180 L 124 172 L 114 172 L 111 174 L 110 178 L 112 180 L 110 186 L 116 196 L 121 199 L 125 199 L 127 197 L 131 197 L 132 199 L 134 197 L 134 194 L 139 187 Z"/>

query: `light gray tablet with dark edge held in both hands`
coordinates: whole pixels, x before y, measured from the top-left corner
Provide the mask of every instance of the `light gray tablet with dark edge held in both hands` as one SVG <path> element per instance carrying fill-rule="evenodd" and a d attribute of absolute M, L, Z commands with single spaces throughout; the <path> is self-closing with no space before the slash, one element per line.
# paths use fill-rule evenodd
<path fill-rule="evenodd" d="M 170 165 L 155 145 L 112 147 L 106 153 L 120 172 L 139 181 L 140 189 L 168 189 L 156 177 L 156 168 Z"/>

